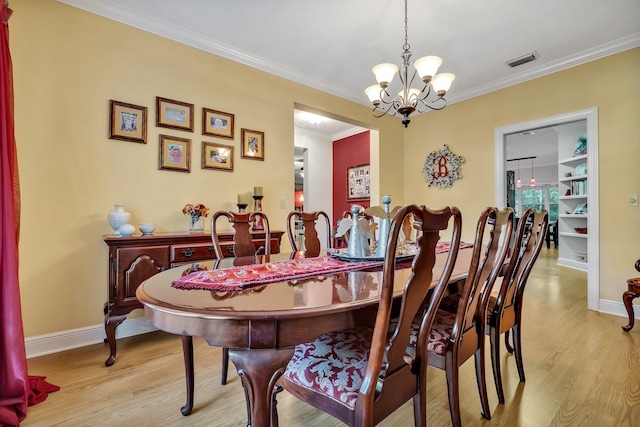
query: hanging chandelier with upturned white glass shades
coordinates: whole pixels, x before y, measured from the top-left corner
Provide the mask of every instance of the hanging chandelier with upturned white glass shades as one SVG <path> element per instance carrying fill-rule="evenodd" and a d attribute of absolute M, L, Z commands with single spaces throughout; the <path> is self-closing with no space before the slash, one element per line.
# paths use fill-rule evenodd
<path fill-rule="evenodd" d="M 391 80 L 398 72 L 398 66 L 394 64 L 378 64 L 373 67 L 377 85 L 369 86 L 365 93 L 373 103 L 373 116 L 382 117 L 385 114 L 402 116 L 404 127 L 409 126 L 409 116 L 416 113 L 424 113 L 427 108 L 442 110 L 447 105 L 444 95 L 451 87 L 455 75 L 451 73 L 436 74 L 442 59 L 437 56 L 423 56 L 415 62 L 411 61 L 411 51 L 407 30 L 407 0 L 404 0 L 404 45 L 402 48 L 402 65 L 399 68 L 402 90 L 397 96 L 392 97 L 387 91 Z M 411 87 L 416 78 L 416 73 L 422 79 L 422 90 Z M 431 98 L 431 99 L 429 99 Z"/>

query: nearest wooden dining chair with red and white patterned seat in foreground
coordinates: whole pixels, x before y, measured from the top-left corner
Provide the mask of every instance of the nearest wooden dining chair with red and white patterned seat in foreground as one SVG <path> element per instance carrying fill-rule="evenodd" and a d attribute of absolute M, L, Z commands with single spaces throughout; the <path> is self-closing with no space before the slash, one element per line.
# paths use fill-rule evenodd
<path fill-rule="evenodd" d="M 394 306 L 396 247 L 403 219 L 413 214 L 414 226 L 422 233 L 411 274 L 399 301 L 400 317 L 390 328 Z M 315 341 L 297 345 L 279 384 L 292 395 L 338 418 L 349 426 L 372 426 L 413 399 L 414 423 L 426 425 L 426 347 L 412 357 L 405 354 L 411 322 L 433 288 L 423 326 L 428 331 L 435 311 L 451 277 L 457 257 L 462 217 L 455 207 L 433 211 L 407 205 L 394 216 L 379 284 L 379 304 L 375 324 L 355 325 L 322 334 Z M 436 244 L 448 230 L 452 250 L 444 265 L 436 265 Z M 350 273 L 351 274 L 351 273 Z M 355 273 L 357 274 L 357 273 Z M 420 336 L 419 339 L 426 341 Z M 422 375 L 421 373 L 424 374 Z"/>

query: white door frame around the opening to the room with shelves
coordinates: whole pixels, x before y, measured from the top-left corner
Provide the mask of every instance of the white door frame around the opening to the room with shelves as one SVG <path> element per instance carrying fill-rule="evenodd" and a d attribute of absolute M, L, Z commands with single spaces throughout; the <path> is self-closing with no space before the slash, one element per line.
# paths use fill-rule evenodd
<path fill-rule="evenodd" d="M 589 156 L 587 158 L 587 176 L 589 188 L 589 217 L 587 227 L 587 307 L 589 310 L 600 310 L 600 202 L 598 199 L 598 107 L 573 111 L 556 116 L 545 117 L 524 123 L 516 123 L 495 129 L 495 162 L 496 162 L 496 206 L 506 206 L 506 135 L 527 130 L 558 126 L 578 120 L 587 122 L 587 140 Z"/>

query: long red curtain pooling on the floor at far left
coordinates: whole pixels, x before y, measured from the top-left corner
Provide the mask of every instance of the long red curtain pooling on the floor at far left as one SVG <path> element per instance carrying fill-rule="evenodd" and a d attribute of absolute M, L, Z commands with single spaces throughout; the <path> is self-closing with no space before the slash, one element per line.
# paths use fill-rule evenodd
<path fill-rule="evenodd" d="M 0 1 L 0 425 L 17 426 L 27 415 L 27 405 L 42 402 L 59 387 L 27 375 L 18 282 L 20 186 L 8 24 L 12 11 Z"/>

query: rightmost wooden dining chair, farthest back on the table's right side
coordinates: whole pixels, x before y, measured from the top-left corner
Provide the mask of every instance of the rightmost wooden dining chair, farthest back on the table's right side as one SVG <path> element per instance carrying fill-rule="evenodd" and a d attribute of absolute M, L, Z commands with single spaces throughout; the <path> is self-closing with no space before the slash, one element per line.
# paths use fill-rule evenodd
<path fill-rule="evenodd" d="M 524 288 L 540 249 L 545 243 L 549 227 L 549 214 L 545 210 L 536 212 L 529 208 L 518 221 L 514 246 L 497 294 L 487 298 L 487 316 L 485 334 L 491 343 L 491 366 L 496 384 L 498 401 L 504 403 L 504 390 L 500 371 L 500 335 L 505 334 L 504 342 L 509 353 L 514 353 L 520 381 L 524 382 L 524 364 L 522 362 L 522 336 L 520 325 Z M 509 331 L 513 331 L 513 345 L 509 343 Z"/>

